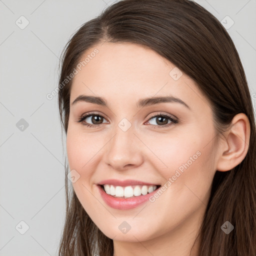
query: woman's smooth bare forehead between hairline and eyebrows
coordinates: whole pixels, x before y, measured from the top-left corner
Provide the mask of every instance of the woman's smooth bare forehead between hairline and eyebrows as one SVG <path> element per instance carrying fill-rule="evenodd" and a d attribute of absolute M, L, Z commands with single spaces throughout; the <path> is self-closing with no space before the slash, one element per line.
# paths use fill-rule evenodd
<path fill-rule="evenodd" d="M 207 101 L 190 77 L 140 44 L 100 43 L 86 50 L 80 61 L 84 62 L 73 78 L 70 102 L 81 94 L 120 104 L 162 95 L 173 95 L 198 107 Z"/>

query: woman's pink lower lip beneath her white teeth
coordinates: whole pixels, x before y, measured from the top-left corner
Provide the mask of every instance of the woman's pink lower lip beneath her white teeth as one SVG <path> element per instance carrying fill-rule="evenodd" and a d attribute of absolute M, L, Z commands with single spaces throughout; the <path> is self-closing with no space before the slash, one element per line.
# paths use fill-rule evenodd
<path fill-rule="evenodd" d="M 105 203 L 114 208 L 120 210 L 128 210 L 135 208 L 142 203 L 146 202 L 151 195 L 153 195 L 159 188 L 155 189 L 151 193 L 147 193 L 145 195 L 138 195 L 131 198 L 122 198 L 122 197 L 113 197 L 110 194 L 107 194 L 100 185 L 97 185 L 99 188 L 99 192 Z"/>

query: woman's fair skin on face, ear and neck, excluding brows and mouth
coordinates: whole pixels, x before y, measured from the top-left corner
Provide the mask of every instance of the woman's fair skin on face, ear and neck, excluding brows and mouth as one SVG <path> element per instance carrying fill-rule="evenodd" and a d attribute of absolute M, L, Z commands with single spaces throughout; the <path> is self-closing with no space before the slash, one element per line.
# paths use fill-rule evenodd
<path fill-rule="evenodd" d="M 93 222 L 113 239 L 114 256 L 188 256 L 215 171 L 230 170 L 247 153 L 248 119 L 236 115 L 230 129 L 217 139 L 209 101 L 186 74 L 178 80 L 169 75 L 173 63 L 133 43 L 97 44 L 81 59 L 95 48 L 99 52 L 74 76 L 70 92 L 66 149 L 70 170 L 80 175 L 74 191 Z M 72 105 L 81 94 L 104 97 L 107 107 L 85 101 Z M 166 95 L 180 98 L 189 108 L 177 102 L 136 106 L 139 99 Z M 97 127 L 77 122 L 90 111 L 104 117 Z M 178 123 L 168 120 L 171 124 L 161 127 L 156 123 L 160 113 L 177 117 Z M 87 123 L 93 123 L 91 117 Z M 131 124 L 127 131 L 118 127 L 123 118 Z M 113 209 L 96 187 L 108 178 L 163 186 L 198 151 L 197 159 L 154 202 Z M 118 228 L 123 221 L 131 226 L 127 233 Z M 197 255 L 197 249 L 195 243 L 191 255 Z"/>

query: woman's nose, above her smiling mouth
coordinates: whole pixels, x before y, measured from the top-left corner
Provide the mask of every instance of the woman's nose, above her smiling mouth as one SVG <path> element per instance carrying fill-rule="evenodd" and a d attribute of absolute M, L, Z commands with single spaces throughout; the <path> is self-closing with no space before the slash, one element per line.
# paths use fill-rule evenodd
<path fill-rule="evenodd" d="M 118 126 L 114 136 L 107 143 L 105 163 L 113 169 L 124 170 L 142 164 L 142 144 L 130 127 L 123 131 Z"/>

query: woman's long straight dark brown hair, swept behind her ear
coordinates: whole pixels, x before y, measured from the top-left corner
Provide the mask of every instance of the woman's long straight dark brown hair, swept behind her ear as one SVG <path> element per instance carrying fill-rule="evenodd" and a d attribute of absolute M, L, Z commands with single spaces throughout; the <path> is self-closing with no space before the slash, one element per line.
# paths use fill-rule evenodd
<path fill-rule="evenodd" d="M 72 79 L 63 85 L 83 53 L 93 45 L 132 42 L 146 45 L 189 75 L 208 98 L 219 134 L 237 113 L 250 123 L 250 142 L 243 161 L 216 171 L 197 239 L 198 256 L 256 255 L 255 120 L 244 70 L 236 48 L 220 22 L 189 0 L 121 0 L 84 23 L 62 52 L 58 106 L 67 132 Z M 112 256 L 113 241 L 92 222 L 68 187 L 65 168 L 66 217 L 59 256 Z M 234 229 L 225 234 L 228 220 Z"/>

